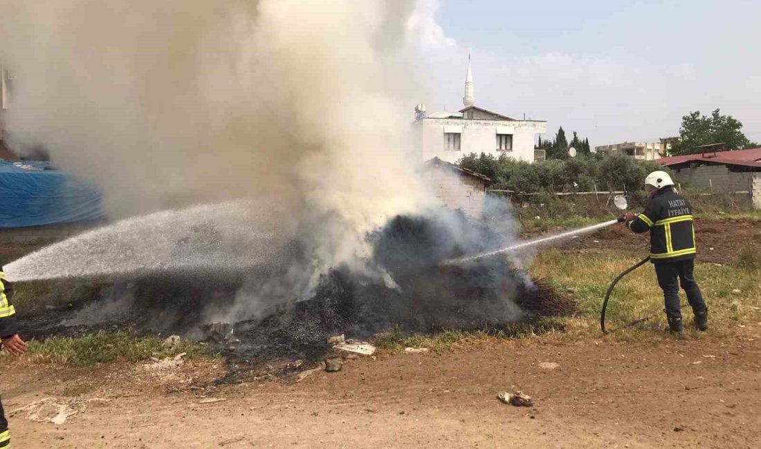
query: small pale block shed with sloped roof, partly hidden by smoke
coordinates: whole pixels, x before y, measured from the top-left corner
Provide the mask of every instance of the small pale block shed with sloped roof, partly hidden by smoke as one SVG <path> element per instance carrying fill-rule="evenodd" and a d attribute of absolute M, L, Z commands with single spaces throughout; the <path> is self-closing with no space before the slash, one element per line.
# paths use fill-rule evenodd
<path fill-rule="evenodd" d="M 486 188 L 492 183 L 488 176 L 460 168 L 438 157 L 426 161 L 423 172 L 436 197 L 447 207 L 460 209 L 469 217 L 483 216 Z"/>

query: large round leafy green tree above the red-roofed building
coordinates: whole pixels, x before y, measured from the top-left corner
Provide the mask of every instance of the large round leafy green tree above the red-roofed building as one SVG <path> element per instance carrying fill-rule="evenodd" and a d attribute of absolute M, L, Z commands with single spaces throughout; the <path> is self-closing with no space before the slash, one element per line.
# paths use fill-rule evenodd
<path fill-rule="evenodd" d="M 731 115 L 721 115 L 716 109 L 711 115 L 701 115 L 700 111 L 690 112 L 682 117 L 679 129 L 680 139 L 671 147 L 671 153 L 700 153 L 701 145 L 724 144 L 728 150 L 753 147 L 753 142 L 745 137 L 740 128 L 743 124 Z"/>

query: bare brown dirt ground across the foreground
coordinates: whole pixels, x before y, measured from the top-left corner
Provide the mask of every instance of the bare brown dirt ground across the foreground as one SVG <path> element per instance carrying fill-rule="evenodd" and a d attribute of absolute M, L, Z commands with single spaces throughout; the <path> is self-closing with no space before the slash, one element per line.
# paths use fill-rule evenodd
<path fill-rule="evenodd" d="M 209 363 L 18 363 L 0 388 L 20 448 L 761 447 L 759 334 L 761 323 L 731 340 L 501 340 L 349 359 L 298 383 L 215 386 L 223 367 Z M 534 406 L 500 403 L 513 386 Z M 14 413 L 45 398 L 78 413 L 60 425 Z"/>

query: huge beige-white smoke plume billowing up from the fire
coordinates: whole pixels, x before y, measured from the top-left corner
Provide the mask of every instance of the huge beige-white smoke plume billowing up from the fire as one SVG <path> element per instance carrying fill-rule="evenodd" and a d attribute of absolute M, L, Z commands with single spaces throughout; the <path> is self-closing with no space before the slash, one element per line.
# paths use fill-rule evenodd
<path fill-rule="evenodd" d="M 431 204 L 408 135 L 414 7 L 0 0 L 8 136 L 95 182 L 112 218 L 274 202 L 314 278 Z"/>

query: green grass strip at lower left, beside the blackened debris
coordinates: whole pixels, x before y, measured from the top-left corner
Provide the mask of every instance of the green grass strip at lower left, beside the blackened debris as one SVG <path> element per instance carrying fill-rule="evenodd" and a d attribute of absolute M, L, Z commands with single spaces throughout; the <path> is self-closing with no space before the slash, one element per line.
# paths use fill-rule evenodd
<path fill-rule="evenodd" d="M 209 349 L 191 340 L 181 340 L 170 347 L 158 337 L 138 337 L 132 330 L 101 330 L 84 337 L 49 338 L 29 343 L 28 356 L 43 362 L 89 366 L 106 362 L 139 362 L 151 357 L 174 357 L 186 353 L 185 359 L 213 357 Z"/>

